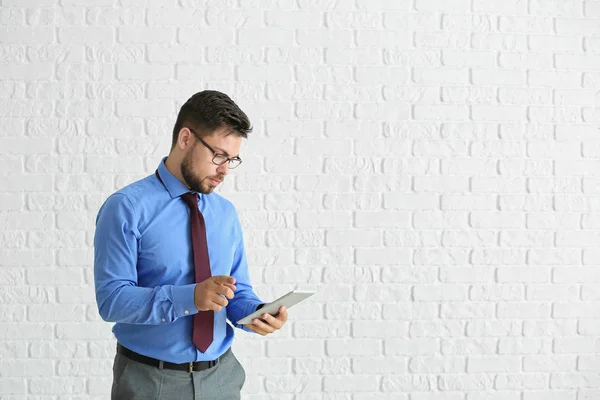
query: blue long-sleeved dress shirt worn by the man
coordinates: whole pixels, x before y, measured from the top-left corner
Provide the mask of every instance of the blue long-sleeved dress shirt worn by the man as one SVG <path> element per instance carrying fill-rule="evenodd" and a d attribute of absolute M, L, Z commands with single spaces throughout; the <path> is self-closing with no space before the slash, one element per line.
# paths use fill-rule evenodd
<path fill-rule="evenodd" d="M 113 193 L 96 217 L 94 282 L 100 316 L 116 322 L 123 346 L 174 363 L 213 360 L 233 341 L 233 328 L 263 302 L 250 283 L 242 229 L 231 202 L 199 193 L 213 276 L 236 279 L 234 298 L 214 313 L 213 342 L 205 353 L 192 343 L 194 263 L 190 211 L 180 198 L 190 190 L 165 167 Z M 235 325 L 248 330 L 245 326 Z M 249 331 L 249 330 L 248 330 Z"/>

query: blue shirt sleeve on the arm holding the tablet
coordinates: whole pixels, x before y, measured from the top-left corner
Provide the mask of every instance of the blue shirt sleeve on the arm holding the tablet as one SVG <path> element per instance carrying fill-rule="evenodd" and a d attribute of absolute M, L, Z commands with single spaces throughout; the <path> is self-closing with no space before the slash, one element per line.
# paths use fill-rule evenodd
<path fill-rule="evenodd" d="M 264 302 L 254 293 L 254 289 L 250 283 L 244 238 L 237 213 L 235 213 L 235 235 L 238 239 L 233 256 L 231 276 L 235 278 L 236 290 L 233 299 L 229 300 L 229 304 L 226 307 L 227 318 L 235 327 L 252 332 L 245 325 L 237 324 L 236 322 L 256 311 L 257 307 L 260 304 L 264 304 Z"/>

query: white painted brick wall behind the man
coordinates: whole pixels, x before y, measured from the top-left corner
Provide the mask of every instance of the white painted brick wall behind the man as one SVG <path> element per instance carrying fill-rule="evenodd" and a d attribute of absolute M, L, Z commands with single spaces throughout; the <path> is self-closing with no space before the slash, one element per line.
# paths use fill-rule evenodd
<path fill-rule="evenodd" d="M 244 398 L 600 398 L 597 0 L 0 0 L 0 399 L 106 399 L 94 218 L 212 88 L 260 295 Z"/>

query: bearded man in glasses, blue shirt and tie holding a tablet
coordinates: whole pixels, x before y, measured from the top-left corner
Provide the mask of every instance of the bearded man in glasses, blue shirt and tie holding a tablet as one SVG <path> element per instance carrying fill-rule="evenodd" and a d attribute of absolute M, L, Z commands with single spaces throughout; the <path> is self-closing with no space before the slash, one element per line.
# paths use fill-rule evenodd
<path fill-rule="evenodd" d="M 155 173 L 108 197 L 96 218 L 94 281 L 116 322 L 113 399 L 239 399 L 245 381 L 233 328 L 268 335 L 285 307 L 236 325 L 263 302 L 250 284 L 240 221 L 214 189 L 241 163 L 248 117 L 203 91 L 179 111 Z"/>

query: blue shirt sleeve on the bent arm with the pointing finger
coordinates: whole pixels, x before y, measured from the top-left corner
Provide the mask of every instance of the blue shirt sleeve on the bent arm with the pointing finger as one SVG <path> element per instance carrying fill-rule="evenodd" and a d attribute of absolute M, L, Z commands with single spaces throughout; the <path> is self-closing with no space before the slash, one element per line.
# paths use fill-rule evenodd
<path fill-rule="evenodd" d="M 122 193 L 111 195 L 96 217 L 94 285 L 100 316 L 107 322 L 157 325 L 196 314 L 195 284 L 137 285 L 137 222 L 133 204 Z"/>

